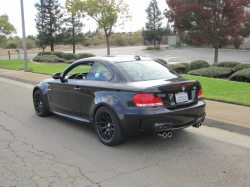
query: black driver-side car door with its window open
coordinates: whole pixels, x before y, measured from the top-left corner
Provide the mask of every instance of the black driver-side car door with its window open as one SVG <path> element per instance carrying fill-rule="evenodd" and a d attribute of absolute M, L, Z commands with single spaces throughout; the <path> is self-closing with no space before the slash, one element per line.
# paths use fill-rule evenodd
<path fill-rule="evenodd" d="M 55 112 L 71 116 L 80 116 L 82 95 L 85 78 L 83 71 L 89 71 L 80 64 L 73 68 L 67 75 L 67 82 L 56 82 L 50 85 L 51 107 Z M 85 65 L 86 66 L 86 65 Z M 90 69 L 90 67 L 89 67 Z"/>

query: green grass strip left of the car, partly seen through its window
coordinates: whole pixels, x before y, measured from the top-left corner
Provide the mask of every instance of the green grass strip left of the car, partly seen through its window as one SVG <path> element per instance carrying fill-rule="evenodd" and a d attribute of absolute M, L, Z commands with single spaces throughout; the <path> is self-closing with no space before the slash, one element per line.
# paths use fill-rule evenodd
<path fill-rule="evenodd" d="M 68 64 L 35 64 L 28 60 L 29 72 L 42 73 L 52 75 L 57 72 L 62 72 Z M 1 60 L 0 68 L 14 69 L 14 70 L 23 70 L 24 69 L 24 60 Z M 82 71 L 88 71 L 89 66 L 86 66 Z"/>

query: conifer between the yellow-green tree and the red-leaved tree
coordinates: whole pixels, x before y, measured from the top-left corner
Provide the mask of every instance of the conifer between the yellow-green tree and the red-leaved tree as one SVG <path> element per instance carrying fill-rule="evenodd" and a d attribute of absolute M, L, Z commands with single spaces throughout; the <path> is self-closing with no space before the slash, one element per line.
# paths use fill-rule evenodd
<path fill-rule="evenodd" d="M 153 41 L 155 48 L 155 41 L 161 41 L 166 32 L 165 29 L 161 28 L 161 20 L 163 17 L 156 0 L 151 0 L 145 11 L 148 22 L 146 23 L 146 30 L 143 31 L 142 36 L 149 42 Z"/>

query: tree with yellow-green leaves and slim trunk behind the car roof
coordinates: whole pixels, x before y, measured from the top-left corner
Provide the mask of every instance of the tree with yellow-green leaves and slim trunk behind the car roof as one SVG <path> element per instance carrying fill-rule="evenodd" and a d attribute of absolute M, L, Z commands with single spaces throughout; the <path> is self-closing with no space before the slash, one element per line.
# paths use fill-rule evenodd
<path fill-rule="evenodd" d="M 98 27 L 104 30 L 107 55 L 110 55 L 109 37 L 113 27 L 122 26 L 131 19 L 128 5 L 123 0 L 76 0 L 73 9 L 81 11 L 83 16 L 93 18 Z"/>

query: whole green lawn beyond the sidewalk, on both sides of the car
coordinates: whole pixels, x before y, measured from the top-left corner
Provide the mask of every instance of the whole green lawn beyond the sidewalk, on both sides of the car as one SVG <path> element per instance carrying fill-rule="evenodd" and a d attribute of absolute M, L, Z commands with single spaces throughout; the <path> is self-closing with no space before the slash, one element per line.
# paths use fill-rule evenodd
<path fill-rule="evenodd" d="M 62 72 L 68 65 L 64 64 L 35 64 L 28 62 L 29 71 L 52 75 Z M 0 67 L 23 70 L 24 60 L 2 60 Z M 81 69 L 82 72 L 89 71 L 90 67 L 86 66 Z M 185 78 L 200 81 L 203 89 L 203 97 L 216 101 L 224 101 L 250 106 L 250 84 L 242 82 L 233 82 L 221 79 L 213 79 L 206 77 L 196 77 L 191 75 L 182 75 Z"/>

